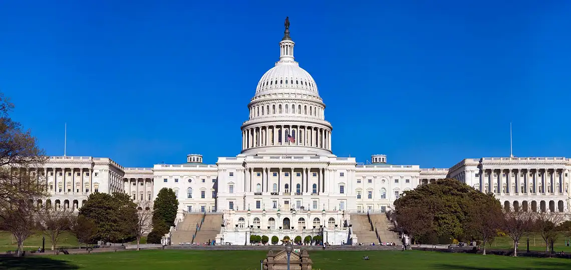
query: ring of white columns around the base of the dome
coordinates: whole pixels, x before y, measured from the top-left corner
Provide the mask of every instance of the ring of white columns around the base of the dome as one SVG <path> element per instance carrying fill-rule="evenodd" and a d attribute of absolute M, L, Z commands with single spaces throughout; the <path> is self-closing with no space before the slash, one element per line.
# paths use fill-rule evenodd
<path fill-rule="evenodd" d="M 287 139 L 295 138 L 295 142 Z M 242 130 L 242 149 L 262 146 L 309 146 L 331 150 L 331 132 L 325 128 L 274 125 L 251 127 Z"/>

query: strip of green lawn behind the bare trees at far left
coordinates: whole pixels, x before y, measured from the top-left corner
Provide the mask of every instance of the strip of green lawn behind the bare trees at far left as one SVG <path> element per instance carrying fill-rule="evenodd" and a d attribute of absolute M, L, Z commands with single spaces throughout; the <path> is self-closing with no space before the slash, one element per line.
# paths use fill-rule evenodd
<path fill-rule="evenodd" d="M 58 238 L 58 247 L 78 247 L 77 239 L 71 233 L 64 232 Z M 18 247 L 10 232 L 0 231 L 0 252 L 15 250 Z M 24 241 L 24 250 L 38 250 L 42 247 L 42 233 L 35 233 Z M 51 240 L 46 237 L 46 249 L 51 249 Z"/>

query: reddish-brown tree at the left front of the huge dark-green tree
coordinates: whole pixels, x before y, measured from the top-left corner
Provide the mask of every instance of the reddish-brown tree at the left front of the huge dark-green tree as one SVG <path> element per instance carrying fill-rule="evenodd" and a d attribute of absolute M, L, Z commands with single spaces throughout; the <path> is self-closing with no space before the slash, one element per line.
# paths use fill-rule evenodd
<path fill-rule="evenodd" d="M 411 237 L 411 240 L 416 240 L 417 237 L 432 230 L 434 216 L 425 207 L 403 207 L 395 216 L 398 227 L 403 229 Z"/>

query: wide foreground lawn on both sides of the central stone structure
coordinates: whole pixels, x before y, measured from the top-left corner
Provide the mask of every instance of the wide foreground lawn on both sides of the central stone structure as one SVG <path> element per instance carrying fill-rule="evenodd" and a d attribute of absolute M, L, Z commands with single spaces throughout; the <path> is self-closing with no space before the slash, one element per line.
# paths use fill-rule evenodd
<path fill-rule="evenodd" d="M 361 258 L 368 255 L 370 260 Z M 571 269 L 571 260 L 439 253 L 422 251 L 316 251 L 310 252 L 313 268 L 347 269 Z M 93 253 L 90 255 L 2 258 L 0 269 L 259 269 L 264 251 L 152 250 Z"/>

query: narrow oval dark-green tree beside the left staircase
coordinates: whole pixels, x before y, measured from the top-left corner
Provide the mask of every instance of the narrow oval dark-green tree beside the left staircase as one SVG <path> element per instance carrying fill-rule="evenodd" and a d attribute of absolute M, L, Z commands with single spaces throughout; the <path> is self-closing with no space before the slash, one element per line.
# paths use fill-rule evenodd
<path fill-rule="evenodd" d="M 174 226 L 176 211 L 178 211 L 178 200 L 175 192 L 171 188 L 162 188 L 159 194 L 156 195 L 153 204 L 153 225 L 162 221 L 167 228 Z"/>

